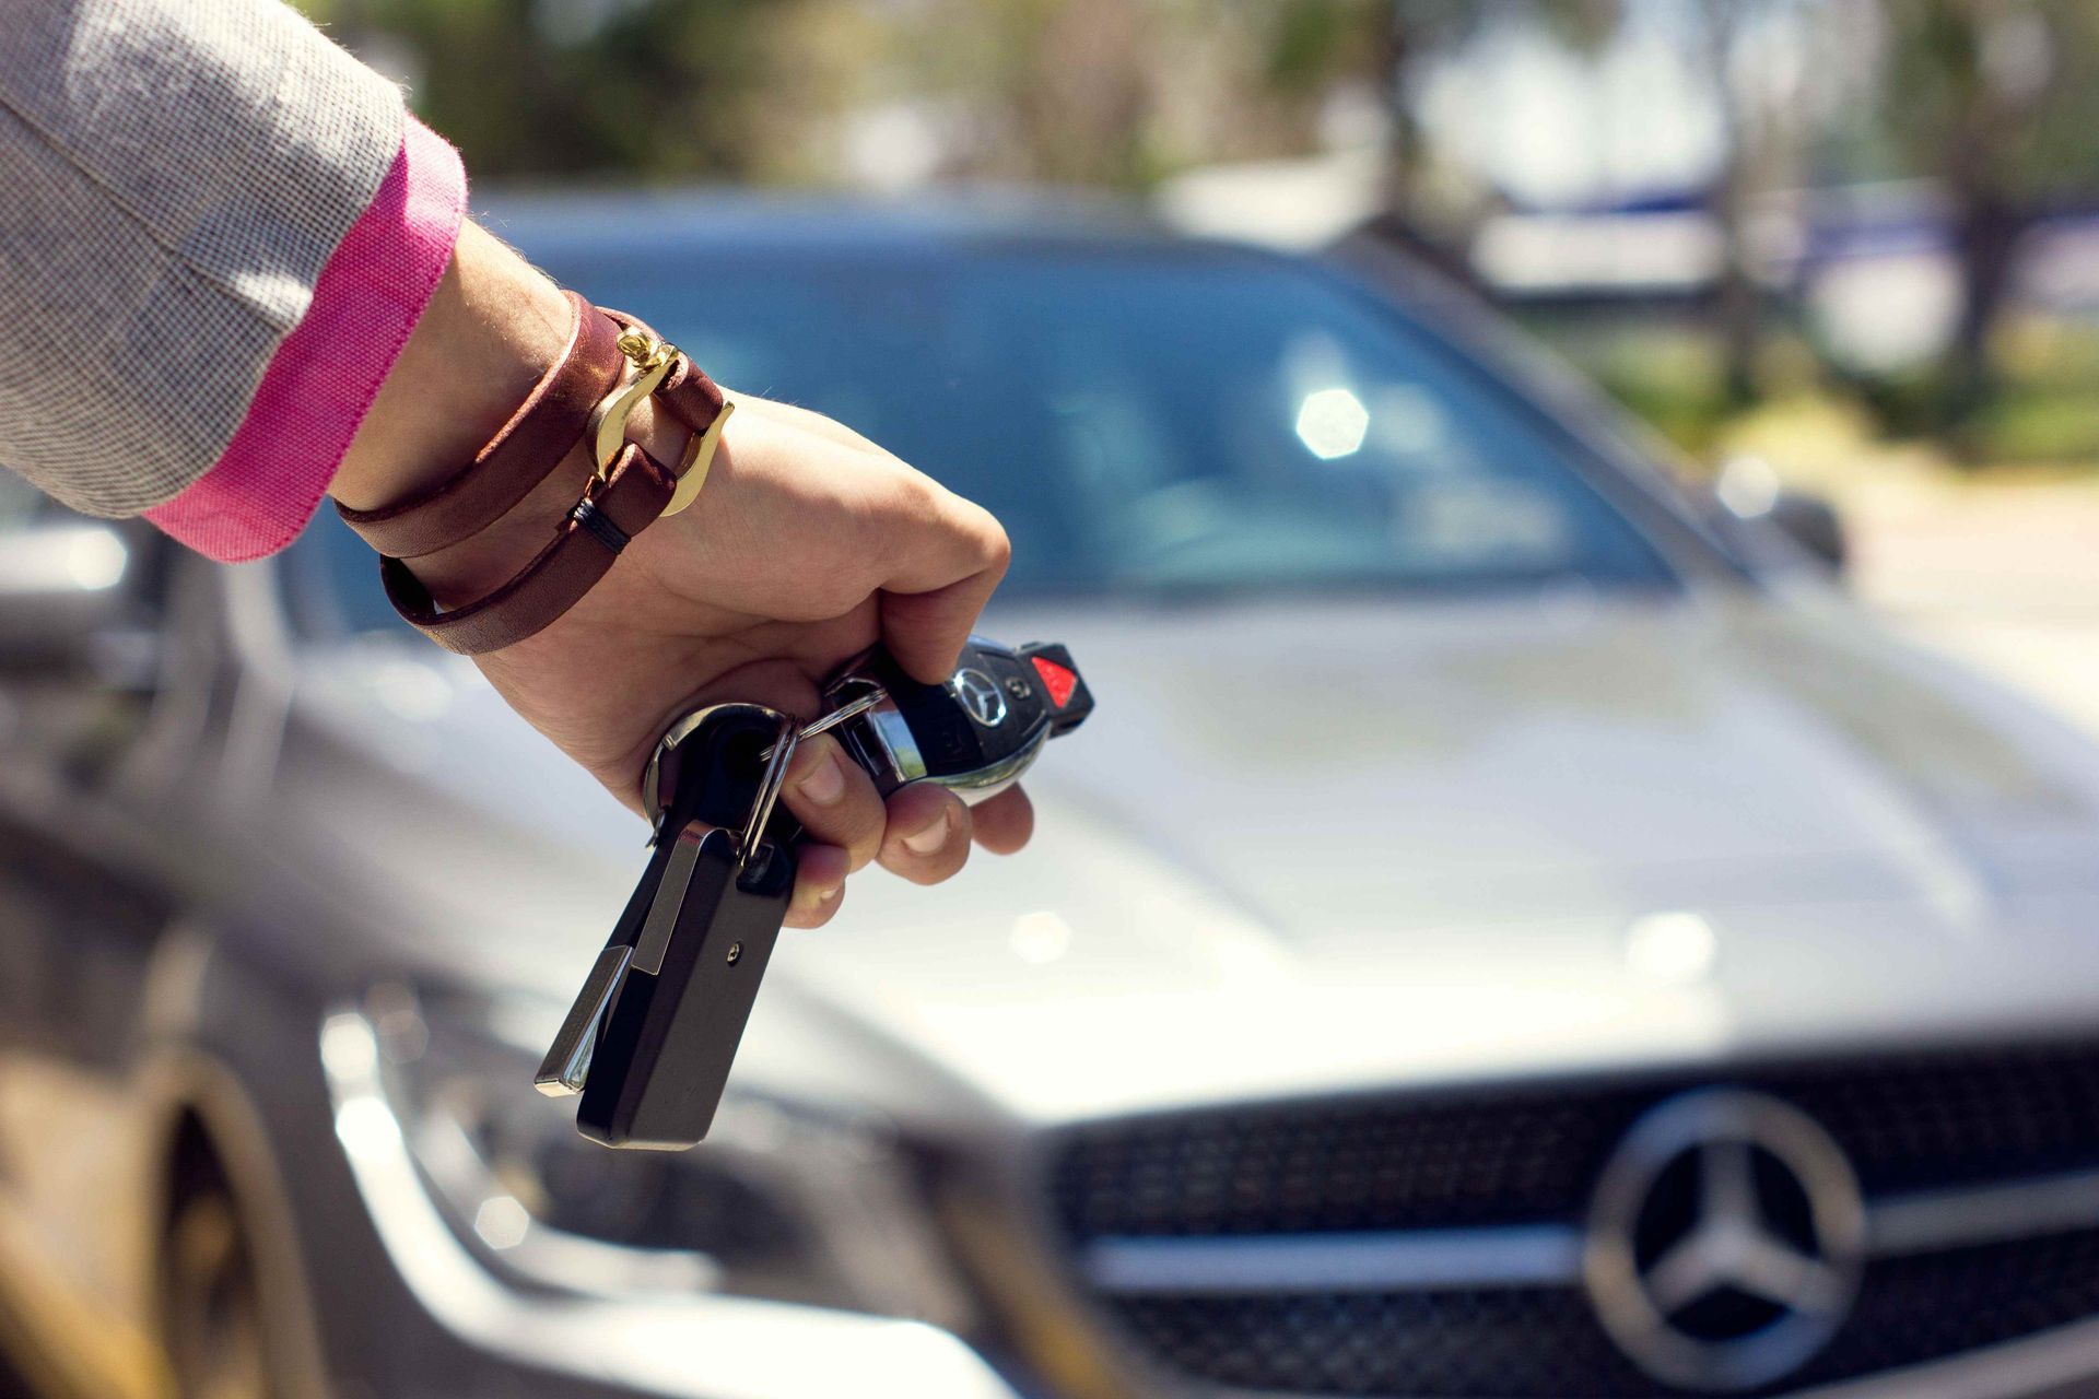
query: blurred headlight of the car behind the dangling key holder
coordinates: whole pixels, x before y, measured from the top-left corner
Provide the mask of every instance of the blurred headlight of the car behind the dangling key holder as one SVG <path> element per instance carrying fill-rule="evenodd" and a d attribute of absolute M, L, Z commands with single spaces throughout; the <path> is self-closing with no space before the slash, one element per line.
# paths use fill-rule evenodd
<path fill-rule="evenodd" d="M 533 1091 L 535 1053 L 491 1017 L 388 988 L 357 1019 L 432 1200 L 493 1269 L 594 1294 L 722 1292 L 968 1328 L 919 1164 L 886 1122 L 730 1089 L 693 1152 L 613 1152 Z"/>

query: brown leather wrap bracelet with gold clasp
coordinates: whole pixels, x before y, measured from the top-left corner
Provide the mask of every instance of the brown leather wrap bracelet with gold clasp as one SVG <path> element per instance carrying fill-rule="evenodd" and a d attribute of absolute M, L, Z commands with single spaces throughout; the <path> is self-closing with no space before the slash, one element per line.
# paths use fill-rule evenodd
<path fill-rule="evenodd" d="M 571 294 L 577 329 L 502 432 L 437 489 L 342 516 L 380 550 L 380 581 L 401 617 L 439 646 L 483 654 L 514 646 L 575 606 L 642 529 L 693 503 L 707 480 L 730 405 L 722 390 L 646 323 Z M 676 466 L 626 440 L 642 399 L 686 428 Z M 487 529 L 586 443 L 594 474 L 554 537 L 493 591 L 439 610 L 409 558 Z"/>

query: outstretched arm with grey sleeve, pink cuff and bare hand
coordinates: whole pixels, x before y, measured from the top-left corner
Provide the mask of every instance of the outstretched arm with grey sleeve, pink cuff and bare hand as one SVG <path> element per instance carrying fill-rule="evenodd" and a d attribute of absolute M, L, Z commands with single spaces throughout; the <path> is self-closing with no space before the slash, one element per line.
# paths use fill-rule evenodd
<path fill-rule="evenodd" d="M 277 0 L 0 0 L 0 461 L 76 510 L 267 554 L 323 489 L 372 508 L 455 468 L 558 350 L 556 289 L 460 220 L 449 147 Z M 632 428 L 676 447 L 646 411 Z M 586 470 L 416 573 L 441 604 L 485 591 Z M 817 677 L 875 640 L 945 680 L 1003 566 L 976 505 L 829 419 L 739 399 L 701 503 L 476 663 L 638 805 L 655 736 L 695 703 L 810 713 Z M 972 824 L 995 849 L 1031 824 L 1018 791 L 974 822 L 934 789 L 884 805 L 829 738 L 785 801 L 821 841 L 802 925 L 861 864 L 930 883 Z"/>

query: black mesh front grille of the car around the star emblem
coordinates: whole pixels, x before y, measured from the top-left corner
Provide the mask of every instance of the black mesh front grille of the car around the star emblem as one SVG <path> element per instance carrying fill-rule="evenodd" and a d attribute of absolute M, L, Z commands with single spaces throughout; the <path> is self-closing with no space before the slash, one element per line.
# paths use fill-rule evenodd
<path fill-rule="evenodd" d="M 1052 1189 L 1096 1240 L 1578 1225 L 1625 1131 L 1713 1078 L 1337 1099 L 1079 1128 Z M 1772 1066 L 1849 1156 L 1868 1200 L 2099 1168 L 2099 1045 Z M 1578 1286 L 1335 1294 L 1104 1294 L 1190 1378 L 1295 1395 L 1671 1395 L 1604 1334 Z M 1778 1389 L 1946 1359 L 2099 1315 L 2099 1227 L 1874 1258 L 1830 1342 Z M 1763 1391 L 1772 1393 L 1772 1391 Z"/>

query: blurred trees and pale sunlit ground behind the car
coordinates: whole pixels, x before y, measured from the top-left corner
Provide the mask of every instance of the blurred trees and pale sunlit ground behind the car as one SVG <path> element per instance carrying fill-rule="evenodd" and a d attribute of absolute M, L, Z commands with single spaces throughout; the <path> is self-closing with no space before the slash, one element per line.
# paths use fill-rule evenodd
<path fill-rule="evenodd" d="M 2099 719 L 2061 654 L 2099 623 L 2091 0 L 300 4 L 483 187 L 1050 185 L 1396 241 Z"/>

